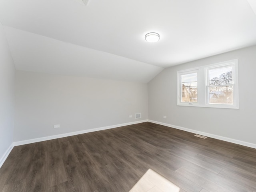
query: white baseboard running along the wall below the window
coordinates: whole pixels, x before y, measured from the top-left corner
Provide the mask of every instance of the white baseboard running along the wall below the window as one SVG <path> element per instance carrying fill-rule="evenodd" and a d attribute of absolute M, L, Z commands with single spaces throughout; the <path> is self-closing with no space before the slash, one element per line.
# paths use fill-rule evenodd
<path fill-rule="evenodd" d="M 153 121 L 153 120 L 148 120 L 148 122 L 159 124 L 159 125 L 164 125 L 164 126 L 167 126 L 167 127 L 172 127 L 172 128 L 175 128 L 175 129 L 179 129 L 179 130 L 183 130 L 183 131 L 187 131 L 187 132 L 191 132 L 191 133 L 207 136 L 207 137 L 210 137 L 210 138 L 219 139 L 219 140 L 222 140 L 222 141 L 227 141 L 227 142 L 231 142 L 231 143 L 235 143 L 235 144 L 239 144 L 239 145 L 243 145 L 243 146 L 246 146 L 246 147 L 256 149 L 256 144 L 254 144 L 254 143 L 248 143 L 248 142 L 244 142 L 244 141 L 240 141 L 240 140 L 236 140 L 236 139 L 232 139 L 232 138 L 228 138 L 228 137 L 214 135 L 214 134 L 210 134 L 210 133 L 206 133 L 206 132 L 201 132 L 201 131 L 188 129 L 188 128 L 184 128 L 184 127 L 180 127 L 180 126 L 176 126 L 176 125 L 171 125 L 171 124 L 167 124 L 167 123 L 162 123 L 162 122 L 158 122 L 158 121 Z"/>

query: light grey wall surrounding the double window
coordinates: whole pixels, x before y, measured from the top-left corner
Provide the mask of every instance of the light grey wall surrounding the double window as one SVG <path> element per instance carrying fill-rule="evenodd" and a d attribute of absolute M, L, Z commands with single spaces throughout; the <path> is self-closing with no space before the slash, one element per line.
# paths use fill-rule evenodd
<path fill-rule="evenodd" d="M 236 58 L 240 109 L 176 105 L 177 71 Z M 255 72 L 256 46 L 166 68 L 148 83 L 148 119 L 256 144 Z"/>

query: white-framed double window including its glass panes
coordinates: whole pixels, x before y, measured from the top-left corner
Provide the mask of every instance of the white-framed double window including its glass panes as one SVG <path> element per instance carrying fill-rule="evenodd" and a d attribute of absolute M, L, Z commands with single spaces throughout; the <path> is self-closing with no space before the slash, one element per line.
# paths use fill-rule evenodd
<path fill-rule="evenodd" d="M 238 60 L 177 72 L 177 105 L 238 109 Z"/>

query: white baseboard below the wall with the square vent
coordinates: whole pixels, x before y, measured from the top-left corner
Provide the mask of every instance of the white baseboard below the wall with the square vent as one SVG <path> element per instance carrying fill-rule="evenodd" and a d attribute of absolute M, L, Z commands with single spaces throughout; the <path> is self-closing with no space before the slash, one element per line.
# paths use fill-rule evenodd
<path fill-rule="evenodd" d="M 89 132 L 94 132 L 94 131 L 101 131 L 101 130 L 106 130 L 106 129 L 112 129 L 112 128 L 117 128 L 117 127 L 122 127 L 122 126 L 127 126 L 127 125 L 144 123 L 144 122 L 148 122 L 148 120 L 141 120 L 141 121 L 117 124 L 117 125 L 112 125 L 112 126 L 105 126 L 105 127 L 94 128 L 94 129 L 88 129 L 88 130 L 82 130 L 82 131 L 76 131 L 76 132 L 52 135 L 52 136 L 47 136 L 47 137 L 40 137 L 40 138 L 35 138 L 35 139 L 17 141 L 17 142 L 13 142 L 13 146 L 19 146 L 19 145 L 25 145 L 25 144 L 30 144 L 30 143 L 36 143 L 36 142 L 41 142 L 41 141 L 52 140 L 52 139 L 58 139 L 58 138 L 63 138 L 63 137 L 68 137 L 68 136 L 74 136 L 74 135 L 79 135 L 79 134 L 84 134 L 84 133 L 89 133 Z"/>

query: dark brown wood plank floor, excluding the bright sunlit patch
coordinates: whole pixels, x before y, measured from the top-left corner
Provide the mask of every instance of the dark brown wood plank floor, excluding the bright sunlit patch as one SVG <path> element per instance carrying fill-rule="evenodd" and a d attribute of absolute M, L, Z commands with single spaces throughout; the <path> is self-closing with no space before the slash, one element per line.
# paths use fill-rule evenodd
<path fill-rule="evenodd" d="M 180 192 L 256 192 L 256 149 L 149 122 L 16 146 L 0 192 L 128 192 L 149 168 Z"/>

